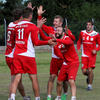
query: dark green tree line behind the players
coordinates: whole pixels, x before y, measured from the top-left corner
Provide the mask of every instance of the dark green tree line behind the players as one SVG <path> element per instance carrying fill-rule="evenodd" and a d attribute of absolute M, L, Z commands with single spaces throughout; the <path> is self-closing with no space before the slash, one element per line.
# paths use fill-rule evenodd
<path fill-rule="evenodd" d="M 68 28 L 78 40 L 81 30 L 86 29 L 86 22 L 94 19 L 95 29 L 100 31 L 100 1 L 99 0 L 6 0 L 0 2 L 0 45 L 4 45 L 4 18 L 8 25 L 13 21 L 13 11 L 16 8 L 22 9 L 31 1 L 35 9 L 33 11 L 32 22 L 37 21 L 37 7 L 42 5 L 46 12 L 43 14 L 47 18 L 45 23 L 48 26 L 53 26 L 55 15 L 61 15 L 64 19 L 67 18 Z M 63 27 L 65 26 L 65 21 Z"/>

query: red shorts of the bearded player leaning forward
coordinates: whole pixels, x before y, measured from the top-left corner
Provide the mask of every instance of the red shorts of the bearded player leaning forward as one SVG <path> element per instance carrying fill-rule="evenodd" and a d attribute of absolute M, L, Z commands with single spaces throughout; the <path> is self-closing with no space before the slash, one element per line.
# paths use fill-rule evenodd
<path fill-rule="evenodd" d="M 67 62 L 67 65 L 63 64 L 57 80 L 58 81 L 68 81 L 69 79 L 75 80 L 78 68 L 79 68 L 79 61 Z"/>

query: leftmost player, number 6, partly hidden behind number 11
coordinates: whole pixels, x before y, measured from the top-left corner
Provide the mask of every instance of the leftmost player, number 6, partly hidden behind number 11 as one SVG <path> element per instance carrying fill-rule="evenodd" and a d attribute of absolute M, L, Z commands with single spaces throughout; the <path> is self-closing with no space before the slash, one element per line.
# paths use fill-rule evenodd
<path fill-rule="evenodd" d="M 14 52 L 14 47 L 15 47 L 14 30 L 15 30 L 15 26 L 17 25 L 17 23 L 22 20 L 22 16 L 21 16 L 22 10 L 16 9 L 14 11 L 13 15 L 14 15 L 15 21 L 11 22 L 8 25 L 7 48 L 6 48 L 6 51 L 5 51 L 6 63 L 11 70 L 11 83 L 10 83 L 10 86 L 9 86 L 9 98 L 8 98 L 8 100 L 11 100 L 11 87 L 12 87 L 12 83 L 13 83 L 14 78 L 15 78 L 15 76 L 14 76 L 14 64 L 13 64 L 13 52 Z M 21 93 L 23 100 L 30 100 L 30 98 L 25 95 L 24 87 L 23 87 L 23 84 L 22 84 L 22 79 L 19 82 L 18 90 Z"/>

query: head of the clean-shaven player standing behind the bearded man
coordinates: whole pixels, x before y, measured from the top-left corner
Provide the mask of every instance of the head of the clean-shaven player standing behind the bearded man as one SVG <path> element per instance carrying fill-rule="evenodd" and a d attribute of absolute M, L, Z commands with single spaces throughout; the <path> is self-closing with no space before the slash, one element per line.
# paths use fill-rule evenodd
<path fill-rule="evenodd" d="M 54 27 L 57 28 L 58 26 L 62 26 L 62 24 L 63 24 L 63 17 L 60 15 L 56 15 L 53 21 Z"/>

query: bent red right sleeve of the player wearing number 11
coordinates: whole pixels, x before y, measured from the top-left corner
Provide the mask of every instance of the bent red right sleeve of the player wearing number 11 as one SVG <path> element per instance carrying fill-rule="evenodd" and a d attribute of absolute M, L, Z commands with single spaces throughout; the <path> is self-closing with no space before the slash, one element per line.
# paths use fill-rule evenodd
<path fill-rule="evenodd" d="M 39 28 L 34 26 L 31 30 L 31 39 L 34 45 L 46 45 L 48 41 L 41 41 L 38 39 Z"/>

